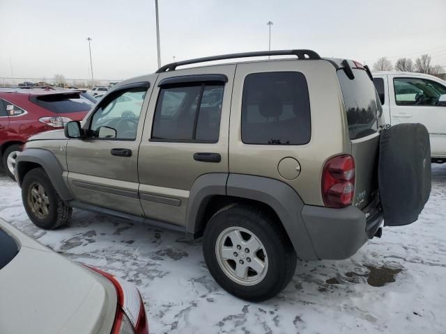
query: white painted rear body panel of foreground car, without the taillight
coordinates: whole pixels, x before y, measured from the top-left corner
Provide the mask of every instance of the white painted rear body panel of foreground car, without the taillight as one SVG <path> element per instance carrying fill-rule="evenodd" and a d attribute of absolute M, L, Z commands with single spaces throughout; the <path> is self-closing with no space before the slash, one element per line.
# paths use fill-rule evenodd
<path fill-rule="evenodd" d="M 116 290 L 0 220 L 20 245 L 0 270 L 0 333 L 110 333 Z"/>

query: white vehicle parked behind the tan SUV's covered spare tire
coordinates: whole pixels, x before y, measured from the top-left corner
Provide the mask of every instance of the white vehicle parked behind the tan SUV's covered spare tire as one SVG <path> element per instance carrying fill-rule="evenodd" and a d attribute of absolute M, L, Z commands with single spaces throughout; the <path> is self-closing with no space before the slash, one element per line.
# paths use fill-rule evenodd
<path fill-rule="evenodd" d="M 387 124 L 421 123 L 433 162 L 446 162 L 446 81 L 429 74 L 373 72 Z"/>

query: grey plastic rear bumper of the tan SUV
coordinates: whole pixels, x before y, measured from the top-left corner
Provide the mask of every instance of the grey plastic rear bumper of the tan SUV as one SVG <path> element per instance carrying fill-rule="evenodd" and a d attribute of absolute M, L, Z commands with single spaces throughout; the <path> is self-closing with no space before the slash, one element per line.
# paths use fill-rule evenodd
<path fill-rule="evenodd" d="M 317 257 L 343 260 L 374 237 L 383 221 L 383 213 L 379 202 L 364 211 L 353 205 L 343 209 L 305 205 L 302 218 Z"/>

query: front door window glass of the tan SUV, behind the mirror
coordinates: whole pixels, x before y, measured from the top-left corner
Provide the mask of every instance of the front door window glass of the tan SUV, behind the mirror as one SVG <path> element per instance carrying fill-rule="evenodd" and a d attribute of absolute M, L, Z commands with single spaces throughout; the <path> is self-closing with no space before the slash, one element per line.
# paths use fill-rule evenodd
<path fill-rule="evenodd" d="M 109 95 L 91 120 L 91 138 L 134 140 L 146 88 L 131 88 Z"/>

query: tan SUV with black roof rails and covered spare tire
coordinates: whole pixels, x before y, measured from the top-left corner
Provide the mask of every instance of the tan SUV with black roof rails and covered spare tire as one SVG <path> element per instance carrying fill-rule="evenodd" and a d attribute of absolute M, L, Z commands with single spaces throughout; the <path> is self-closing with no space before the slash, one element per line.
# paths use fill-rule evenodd
<path fill-rule="evenodd" d="M 277 55 L 294 58 L 177 70 Z M 410 184 L 424 192 L 394 205 L 407 191 L 385 191 L 378 169 L 399 172 L 408 160 L 392 157 L 413 154 L 381 152 L 378 167 L 381 113 L 369 69 L 354 61 L 310 50 L 199 58 L 116 84 L 65 136 L 33 136 L 15 173 L 40 228 L 68 223 L 76 207 L 203 236 L 217 283 L 262 301 L 289 283 L 297 258 L 345 259 L 380 236 L 385 196 L 386 225 L 417 219 L 430 191 L 429 136 L 385 131 L 421 157 Z"/>

